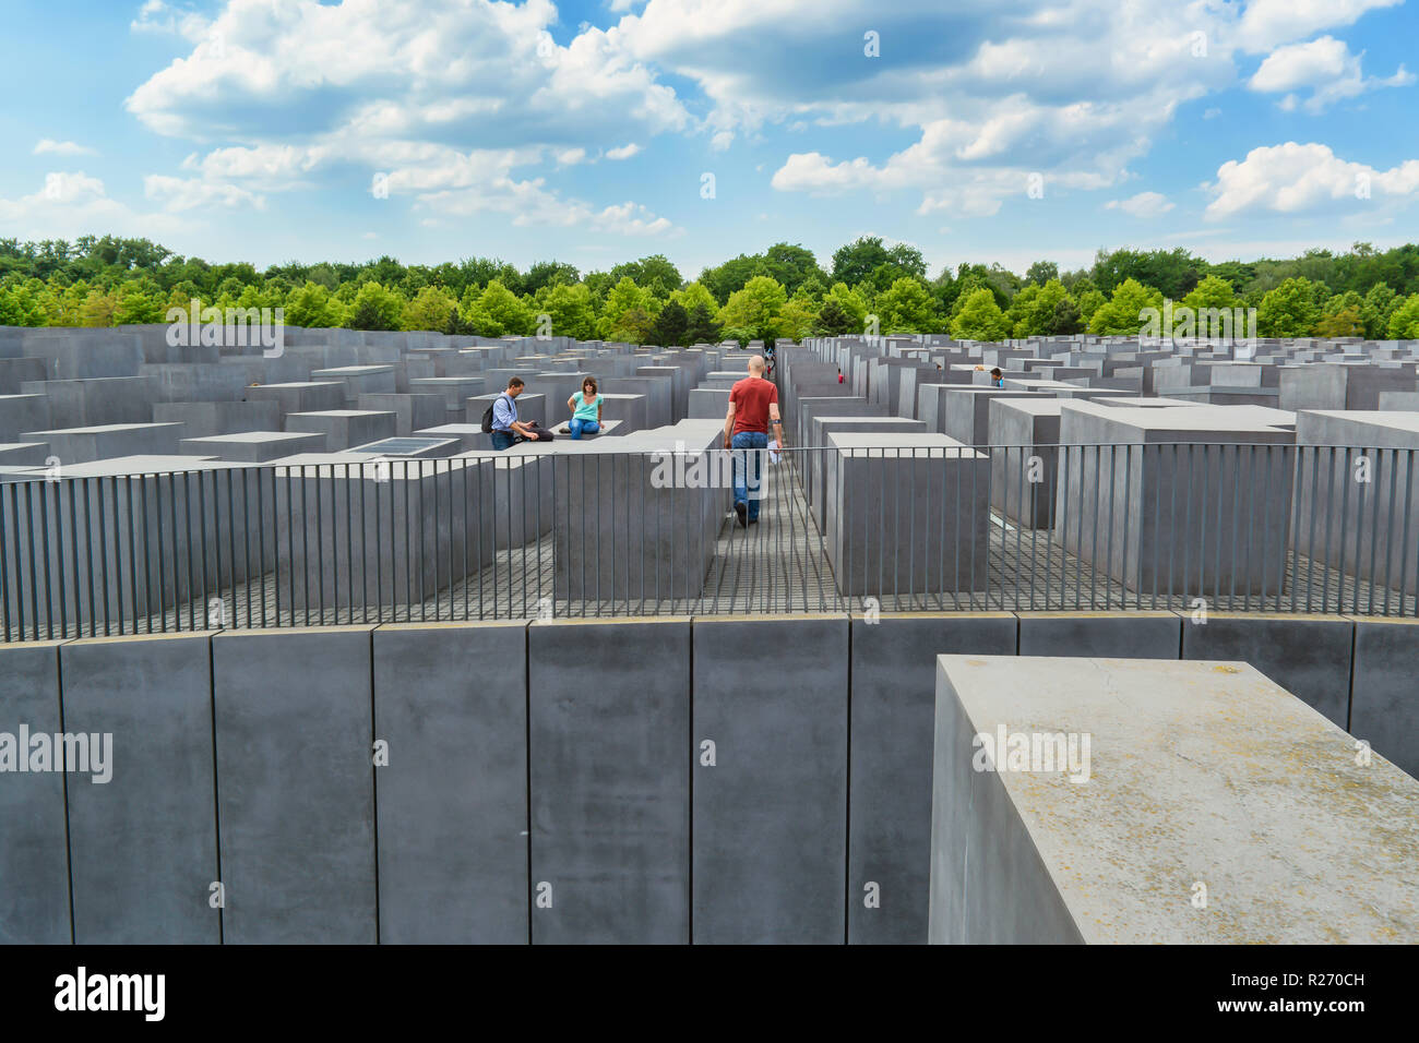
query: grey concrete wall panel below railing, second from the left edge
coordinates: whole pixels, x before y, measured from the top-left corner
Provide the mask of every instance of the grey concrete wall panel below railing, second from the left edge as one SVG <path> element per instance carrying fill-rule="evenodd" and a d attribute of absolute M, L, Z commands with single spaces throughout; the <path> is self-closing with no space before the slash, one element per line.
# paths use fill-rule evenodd
<path fill-rule="evenodd" d="M 109 782 L 70 776 L 81 945 L 220 941 L 210 649 L 206 633 L 60 649 L 65 731 L 114 736 Z"/>

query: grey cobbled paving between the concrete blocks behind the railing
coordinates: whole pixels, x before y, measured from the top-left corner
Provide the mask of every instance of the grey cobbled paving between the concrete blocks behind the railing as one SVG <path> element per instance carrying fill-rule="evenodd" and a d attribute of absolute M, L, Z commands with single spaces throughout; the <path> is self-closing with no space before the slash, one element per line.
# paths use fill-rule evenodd
<path fill-rule="evenodd" d="M 646 589 L 631 597 L 570 600 L 553 597 L 555 548 L 551 535 L 498 551 L 491 565 L 463 582 L 440 583 L 437 592 L 387 590 L 383 603 L 318 605 L 291 609 L 291 583 L 301 578 L 267 573 L 260 580 L 226 587 L 206 602 L 184 602 L 152 616 L 101 620 L 96 624 L 47 619 L 27 613 L 24 631 L 11 622 L 9 640 L 173 633 L 194 629 L 336 626 L 348 623 L 410 623 L 494 619 L 565 619 L 624 616 L 717 616 L 735 613 L 805 612 L 1025 612 L 1025 610 L 1176 610 L 1176 612 L 1288 612 L 1366 616 L 1415 616 L 1413 592 L 1401 593 L 1355 579 L 1334 568 L 1288 552 L 1280 592 L 1222 590 L 1168 596 L 1131 590 L 1087 561 L 1063 549 L 1046 529 L 1026 529 L 990 512 L 989 551 L 979 562 L 986 589 L 969 592 L 908 590 L 894 576 L 907 563 L 883 559 L 873 569 L 877 595 L 839 593 L 833 563 L 813 512 L 803 495 L 800 474 L 788 464 L 768 471 L 766 492 L 755 525 L 741 526 L 725 514 L 705 573 L 704 593 L 685 597 L 674 590 Z M 633 553 L 633 551 L 629 551 Z M 962 568 L 969 572 L 971 565 Z M 607 589 L 610 576 L 604 576 Z M 596 589 L 597 578 L 587 575 Z"/>

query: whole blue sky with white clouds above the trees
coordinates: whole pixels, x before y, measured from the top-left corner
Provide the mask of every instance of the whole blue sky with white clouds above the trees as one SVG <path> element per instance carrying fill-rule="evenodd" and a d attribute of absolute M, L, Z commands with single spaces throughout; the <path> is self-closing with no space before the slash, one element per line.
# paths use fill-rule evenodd
<path fill-rule="evenodd" d="M 932 274 L 1385 247 L 1416 3 L 7 0 L 0 236 L 687 277 L 861 234 Z"/>

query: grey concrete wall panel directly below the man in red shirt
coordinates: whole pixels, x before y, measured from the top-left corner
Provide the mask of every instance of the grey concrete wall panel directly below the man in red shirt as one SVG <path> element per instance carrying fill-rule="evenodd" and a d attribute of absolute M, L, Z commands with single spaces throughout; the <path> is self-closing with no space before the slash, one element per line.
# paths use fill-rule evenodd
<path fill-rule="evenodd" d="M 846 938 L 847 639 L 846 616 L 694 623 L 697 944 Z"/>

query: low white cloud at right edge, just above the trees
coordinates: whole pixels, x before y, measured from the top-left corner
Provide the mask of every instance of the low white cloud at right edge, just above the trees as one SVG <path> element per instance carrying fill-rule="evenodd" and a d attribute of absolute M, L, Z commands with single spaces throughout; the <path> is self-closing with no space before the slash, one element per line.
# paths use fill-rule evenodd
<path fill-rule="evenodd" d="M 1419 193 L 1419 159 L 1389 170 L 1340 159 L 1327 145 L 1286 142 L 1227 160 L 1209 186 L 1206 217 L 1270 211 L 1303 214 L 1405 203 Z"/>

